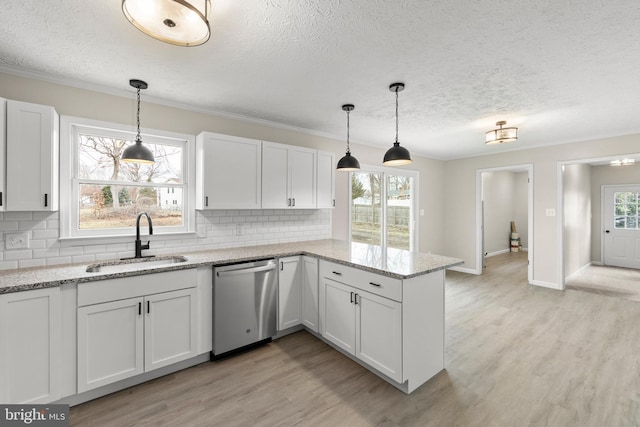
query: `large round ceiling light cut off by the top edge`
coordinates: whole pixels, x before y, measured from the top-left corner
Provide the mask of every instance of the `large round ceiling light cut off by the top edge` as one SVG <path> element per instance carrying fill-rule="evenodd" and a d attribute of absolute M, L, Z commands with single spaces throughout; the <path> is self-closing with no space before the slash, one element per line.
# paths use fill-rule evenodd
<path fill-rule="evenodd" d="M 210 0 L 122 0 L 122 11 L 137 29 L 165 43 L 199 46 L 209 40 Z"/>

